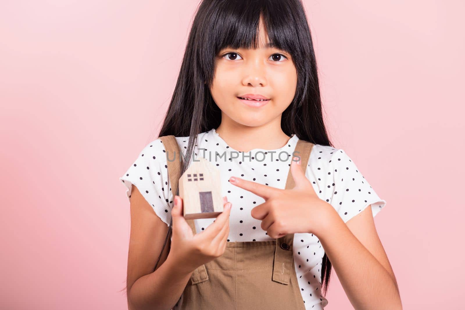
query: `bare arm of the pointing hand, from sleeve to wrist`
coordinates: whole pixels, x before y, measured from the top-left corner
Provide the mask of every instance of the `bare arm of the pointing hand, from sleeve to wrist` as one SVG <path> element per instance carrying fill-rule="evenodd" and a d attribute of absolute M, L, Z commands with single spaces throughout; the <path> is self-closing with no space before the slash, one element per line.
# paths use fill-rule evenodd
<path fill-rule="evenodd" d="M 355 309 L 402 309 L 391 264 L 374 225 L 372 207 L 348 220 L 327 208 L 317 235 Z"/>

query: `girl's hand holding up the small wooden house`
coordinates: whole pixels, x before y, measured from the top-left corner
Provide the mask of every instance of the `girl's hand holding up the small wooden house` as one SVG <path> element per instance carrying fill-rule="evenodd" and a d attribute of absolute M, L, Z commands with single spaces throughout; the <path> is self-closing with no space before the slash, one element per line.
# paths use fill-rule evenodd
<path fill-rule="evenodd" d="M 166 259 L 171 259 L 179 269 L 190 273 L 223 255 L 229 235 L 229 214 L 232 206 L 226 196 L 223 197 L 223 203 L 223 212 L 205 230 L 194 235 L 191 226 L 184 219 L 182 198 L 175 195 L 171 210 L 171 247 Z"/>

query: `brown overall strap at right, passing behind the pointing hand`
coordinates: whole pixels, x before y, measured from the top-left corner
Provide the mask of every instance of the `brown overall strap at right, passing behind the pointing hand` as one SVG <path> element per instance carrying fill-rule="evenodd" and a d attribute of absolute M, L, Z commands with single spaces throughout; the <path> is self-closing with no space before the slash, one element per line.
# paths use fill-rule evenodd
<path fill-rule="evenodd" d="M 310 153 L 312 153 L 313 143 L 304 140 L 298 140 L 293 155 L 300 156 L 300 166 L 306 172 Z M 292 159 L 291 158 L 291 159 Z M 294 178 L 291 174 L 291 169 L 287 174 L 286 187 L 284 189 L 292 189 L 295 186 Z M 292 207 L 292 206 L 289 206 Z M 288 233 L 286 236 L 276 239 L 276 250 L 274 252 L 273 277 L 272 280 L 282 284 L 289 284 L 291 277 L 291 268 L 294 268 L 293 246 L 294 234 Z"/>

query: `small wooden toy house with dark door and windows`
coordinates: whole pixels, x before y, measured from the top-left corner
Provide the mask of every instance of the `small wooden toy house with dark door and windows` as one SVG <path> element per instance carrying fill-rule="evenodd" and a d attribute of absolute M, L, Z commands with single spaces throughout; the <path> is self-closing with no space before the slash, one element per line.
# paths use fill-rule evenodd
<path fill-rule="evenodd" d="M 192 161 L 179 178 L 186 220 L 216 218 L 223 212 L 219 170 L 203 157 Z"/>

